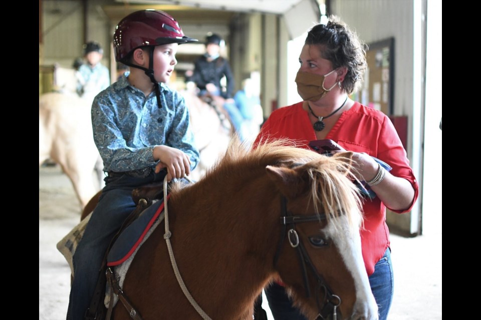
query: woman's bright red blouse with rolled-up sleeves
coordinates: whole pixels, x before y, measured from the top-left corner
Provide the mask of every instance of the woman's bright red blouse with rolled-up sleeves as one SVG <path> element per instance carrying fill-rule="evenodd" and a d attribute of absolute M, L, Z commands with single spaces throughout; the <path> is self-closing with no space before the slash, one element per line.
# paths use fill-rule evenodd
<path fill-rule="evenodd" d="M 269 116 L 261 128 L 254 145 L 261 139 L 290 138 L 309 148 L 309 141 L 316 140 L 308 113 L 302 102 L 282 107 Z M 366 152 L 392 166 L 391 174 L 407 179 L 414 188 L 414 199 L 405 210 L 410 211 L 419 194 L 419 185 L 409 166 L 406 151 L 391 120 L 381 111 L 355 102 L 344 111 L 326 139 L 332 139 L 346 150 Z M 374 265 L 390 244 L 389 228 L 386 224 L 386 207 L 378 197 L 366 198 L 363 202 L 364 229 L 361 230 L 361 245 L 367 274 L 374 272 Z"/>

